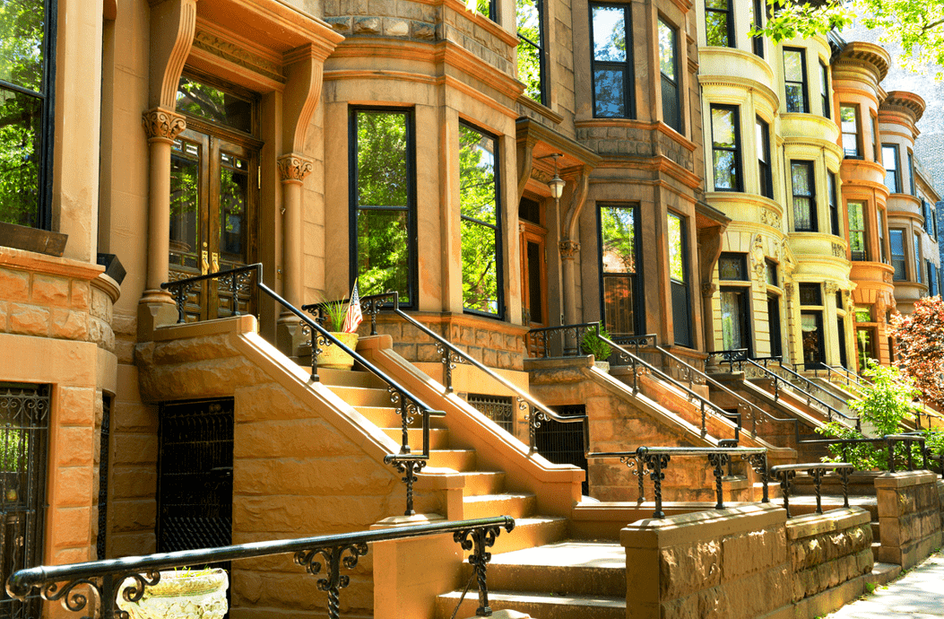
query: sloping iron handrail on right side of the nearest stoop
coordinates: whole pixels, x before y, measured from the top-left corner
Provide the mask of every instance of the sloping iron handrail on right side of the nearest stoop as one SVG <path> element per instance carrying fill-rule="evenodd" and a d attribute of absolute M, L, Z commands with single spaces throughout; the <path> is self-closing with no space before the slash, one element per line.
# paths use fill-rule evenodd
<path fill-rule="evenodd" d="M 518 403 L 518 410 L 527 410 L 528 411 L 528 438 L 529 438 L 529 447 L 531 453 L 537 451 L 537 429 L 541 427 L 541 423 L 544 421 L 557 421 L 559 423 L 582 423 L 583 424 L 583 450 L 586 451 L 590 446 L 590 428 L 588 418 L 586 415 L 575 415 L 573 417 L 565 417 L 554 411 L 552 411 L 548 406 L 541 404 L 534 396 L 532 396 L 527 391 L 517 387 L 511 381 L 507 380 L 505 377 L 497 373 L 497 371 L 487 368 L 478 361 L 476 361 L 468 352 L 464 352 L 459 349 L 452 342 L 448 341 L 442 335 L 437 334 L 432 331 L 425 324 L 413 318 L 406 312 L 400 309 L 399 306 L 399 293 L 393 292 L 389 293 L 394 297 L 393 311 L 397 316 L 403 318 L 414 327 L 419 329 L 426 335 L 429 335 L 433 341 L 436 343 L 436 352 L 439 352 L 440 358 L 443 362 L 443 371 L 444 371 L 444 380 L 443 387 L 445 389 L 444 395 L 452 393 L 452 370 L 455 370 L 457 363 L 465 363 L 477 370 L 484 372 L 488 375 L 489 378 L 499 383 L 502 387 L 512 391 L 514 393 L 515 399 Z"/>

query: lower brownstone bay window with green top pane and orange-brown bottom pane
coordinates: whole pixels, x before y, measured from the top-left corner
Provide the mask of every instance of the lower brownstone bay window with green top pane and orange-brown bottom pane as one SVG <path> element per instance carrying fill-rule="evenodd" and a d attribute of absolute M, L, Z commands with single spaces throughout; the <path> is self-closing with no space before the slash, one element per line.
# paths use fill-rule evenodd
<path fill-rule="evenodd" d="M 643 331 L 638 210 L 632 205 L 599 207 L 601 305 L 606 330 L 613 335 L 641 335 Z"/>

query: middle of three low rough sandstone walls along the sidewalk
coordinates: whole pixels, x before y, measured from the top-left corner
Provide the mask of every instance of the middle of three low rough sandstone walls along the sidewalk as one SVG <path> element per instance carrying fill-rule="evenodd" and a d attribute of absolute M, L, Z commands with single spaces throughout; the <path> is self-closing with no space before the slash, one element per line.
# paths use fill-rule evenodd
<path fill-rule="evenodd" d="M 867 510 L 849 507 L 793 518 L 786 523 L 786 539 L 798 618 L 832 612 L 862 594 L 863 576 L 875 564 Z"/>

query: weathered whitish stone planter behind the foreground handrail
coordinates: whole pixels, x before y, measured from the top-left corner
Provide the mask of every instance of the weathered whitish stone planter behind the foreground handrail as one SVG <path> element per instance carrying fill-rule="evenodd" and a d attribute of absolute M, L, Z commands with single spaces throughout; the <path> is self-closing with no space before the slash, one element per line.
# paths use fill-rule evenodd
<path fill-rule="evenodd" d="M 118 608 L 131 619 L 223 619 L 227 613 L 229 579 L 219 568 L 161 572 L 158 584 L 146 587 L 137 602 L 128 602 L 124 590 L 134 586 L 126 578 L 118 593 Z"/>

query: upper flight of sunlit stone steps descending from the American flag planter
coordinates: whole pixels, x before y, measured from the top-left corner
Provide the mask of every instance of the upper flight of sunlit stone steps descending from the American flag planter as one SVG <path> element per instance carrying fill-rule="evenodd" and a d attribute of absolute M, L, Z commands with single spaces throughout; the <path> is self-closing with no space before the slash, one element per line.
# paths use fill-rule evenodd
<path fill-rule="evenodd" d="M 350 404 L 365 418 L 373 421 L 397 443 L 402 438 L 399 410 L 390 402 L 386 385 L 366 371 L 330 370 L 320 368 L 321 383 Z M 420 423 L 417 416 L 416 424 Z M 489 516 L 511 516 L 514 530 L 498 536 L 493 552 L 509 552 L 535 545 L 557 542 L 564 538 L 565 518 L 541 516 L 534 513 L 536 497 L 530 492 L 506 491 L 505 473 L 481 471 L 474 449 L 450 446 L 447 419 L 433 419 L 430 423 L 430 468 L 452 469 L 465 477 L 465 519 Z M 422 448 L 423 430 L 409 429 L 413 450 Z M 474 612 L 473 612 L 474 614 Z"/>

